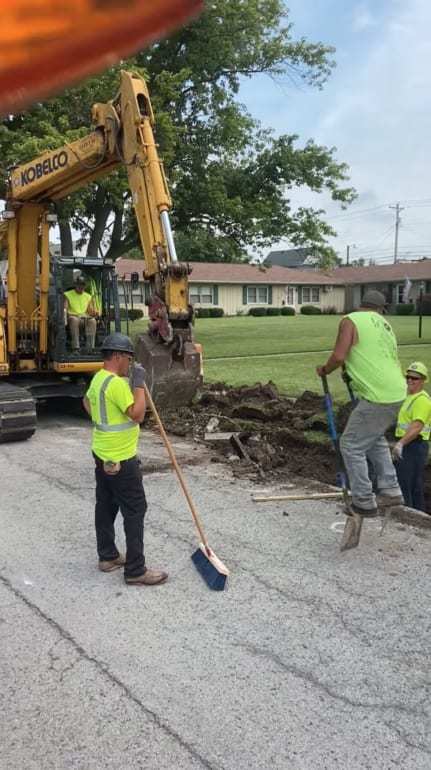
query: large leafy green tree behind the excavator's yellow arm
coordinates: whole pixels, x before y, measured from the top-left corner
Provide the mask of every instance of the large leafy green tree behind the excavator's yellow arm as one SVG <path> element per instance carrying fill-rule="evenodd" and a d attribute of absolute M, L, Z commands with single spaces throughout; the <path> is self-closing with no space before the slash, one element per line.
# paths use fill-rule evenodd
<path fill-rule="evenodd" d="M 157 140 L 168 172 L 177 250 L 187 260 L 240 260 L 281 238 L 316 247 L 333 260 L 334 234 L 322 210 L 295 209 L 289 191 L 329 191 L 342 205 L 354 197 L 335 149 L 295 135 L 275 137 L 237 101 L 241 78 L 265 73 L 321 88 L 333 49 L 295 40 L 282 0 L 214 0 L 193 24 L 154 44 L 124 68 L 149 81 Z M 13 116 L 0 128 L 2 163 L 34 157 L 83 135 L 91 105 L 113 97 L 118 68 Z M 138 234 L 123 169 L 58 207 L 63 250 L 71 227 L 89 254 L 112 257 L 136 248 Z"/>

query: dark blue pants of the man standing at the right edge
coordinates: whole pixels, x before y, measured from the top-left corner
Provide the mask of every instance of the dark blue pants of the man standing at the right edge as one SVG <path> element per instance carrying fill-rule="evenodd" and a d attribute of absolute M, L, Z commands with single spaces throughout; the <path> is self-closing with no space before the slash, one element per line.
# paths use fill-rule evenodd
<path fill-rule="evenodd" d="M 401 460 L 394 463 L 404 502 L 410 508 L 425 510 L 424 472 L 428 459 L 428 441 L 421 438 L 403 447 Z"/>

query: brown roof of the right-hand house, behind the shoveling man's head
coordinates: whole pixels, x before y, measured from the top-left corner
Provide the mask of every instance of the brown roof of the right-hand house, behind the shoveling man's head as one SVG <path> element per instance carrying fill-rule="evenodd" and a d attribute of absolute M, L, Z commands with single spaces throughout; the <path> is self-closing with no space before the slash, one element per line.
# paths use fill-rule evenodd
<path fill-rule="evenodd" d="M 395 265 L 371 265 L 370 267 L 337 267 L 327 275 L 336 283 L 390 283 L 392 281 L 431 280 L 431 259 L 419 262 L 397 262 Z"/>

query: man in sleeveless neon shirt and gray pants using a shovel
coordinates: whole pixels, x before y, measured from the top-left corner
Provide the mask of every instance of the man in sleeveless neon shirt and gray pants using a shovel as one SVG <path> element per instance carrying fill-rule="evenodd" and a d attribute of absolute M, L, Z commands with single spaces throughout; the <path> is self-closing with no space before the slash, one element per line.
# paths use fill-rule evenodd
<path fill-rule="evenodd" d="M 358 401 L 340 439 L 350 481 L 352 509 L 362 516 L 401 505 L 403 497 L 385 432 L 394 424 L 406 395 L 397 341 L 383 317 L 386 300 L 379 291 L 364 294 L 361 307 L 341 321 L 335 347 L 319 376 L 344 366 Z M 375 474 L 377 501 L 369 477 Z"/>

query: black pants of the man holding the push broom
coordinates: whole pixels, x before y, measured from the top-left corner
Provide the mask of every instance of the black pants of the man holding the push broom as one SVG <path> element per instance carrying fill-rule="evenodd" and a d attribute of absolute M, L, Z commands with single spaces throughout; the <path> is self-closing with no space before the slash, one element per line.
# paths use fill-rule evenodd
<path fill-rule="evenodd" d="M 111 476 L 103 470 L 103 462 L 96 461 L 96 539 L 100 561 L 118 556 L 115 545 L 114 522 L 121 510 L 126 536 L 125 577 L 137 577 L 145 572 L 144 516 L 147 510 L 140 463 L 133 457 L 123 460 L 119 473 Z"/>

